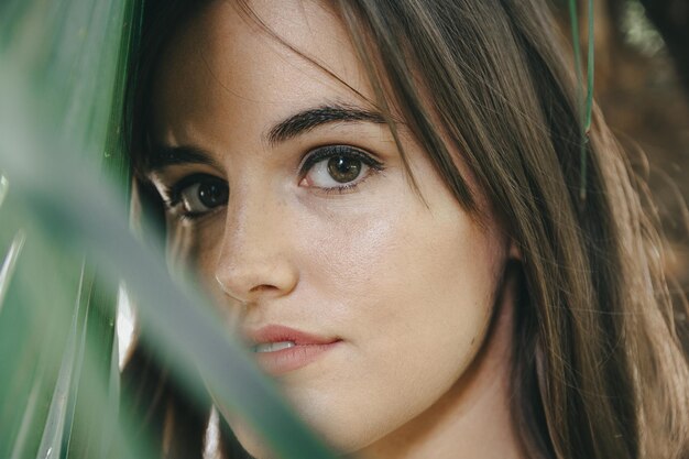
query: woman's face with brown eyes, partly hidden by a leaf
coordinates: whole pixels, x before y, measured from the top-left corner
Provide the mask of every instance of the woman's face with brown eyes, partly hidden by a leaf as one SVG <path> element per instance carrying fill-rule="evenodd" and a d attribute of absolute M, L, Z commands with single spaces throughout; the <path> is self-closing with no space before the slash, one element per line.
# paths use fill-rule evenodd
<path fill-rule="evenodd" d="M 507 238 L 462 209 L 401 123 L 413 189 L 327 8 L 250 4 L 331 74 L 211 2 L 157 67 L 151 177 L 168 200 L 171 256 L 195 264 L 297 413 L 360 450 L 461 379 L 486 336 Z"/>

